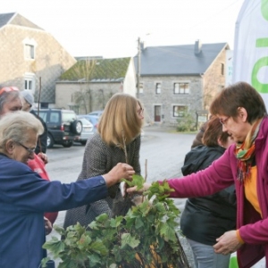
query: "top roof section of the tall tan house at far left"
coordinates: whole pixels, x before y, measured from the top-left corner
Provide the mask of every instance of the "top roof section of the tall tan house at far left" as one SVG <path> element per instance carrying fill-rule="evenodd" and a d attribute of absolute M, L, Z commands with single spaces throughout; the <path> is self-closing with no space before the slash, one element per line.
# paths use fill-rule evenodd
<path fill-rule="evenodd" d="M 33 29 L 42 29 L 38 27 L 38 25 L 32 23 L 31 21 L 21 16 L 19 13 L 0 14 L 0 29 L 4 27 L 4 25 L 7 25 L 7 24 L 24 26 L 24 27 L 29 27 Z"/>

